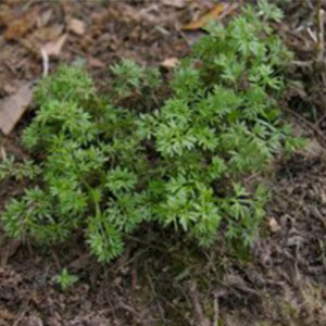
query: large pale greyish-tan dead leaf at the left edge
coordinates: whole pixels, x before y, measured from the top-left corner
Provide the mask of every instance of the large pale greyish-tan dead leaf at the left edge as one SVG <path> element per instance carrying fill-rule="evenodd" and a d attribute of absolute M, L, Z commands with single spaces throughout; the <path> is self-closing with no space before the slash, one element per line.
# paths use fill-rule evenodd
<path fill-rule="evenodd" d="M 18 91 L 0 102 L 0 129 L 9 135 L 16 123 L 21 120 L 25 110 L 32 103 L 33 91 L 30 84 L 21 86 Z"/>

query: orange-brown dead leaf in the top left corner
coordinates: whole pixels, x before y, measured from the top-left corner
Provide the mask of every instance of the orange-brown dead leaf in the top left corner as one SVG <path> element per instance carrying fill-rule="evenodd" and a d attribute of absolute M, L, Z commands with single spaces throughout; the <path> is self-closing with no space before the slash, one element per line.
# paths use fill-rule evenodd
<path fill-rule="evenodd" d="M 38 9 L 14 20 L 9 24 L 7 30 L 4 32 L 4 38 L 8 40 L 18 40 L 34 27 L 37 16 Z"/>

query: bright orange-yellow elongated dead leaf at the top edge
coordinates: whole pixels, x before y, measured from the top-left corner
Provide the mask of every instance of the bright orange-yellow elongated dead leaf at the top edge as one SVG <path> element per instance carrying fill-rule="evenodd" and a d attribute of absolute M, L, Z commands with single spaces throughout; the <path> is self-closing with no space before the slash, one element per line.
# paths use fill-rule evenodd
<path fill-rule="evenodd" d="M 230 14 L 234 10 L 238 8 L 238 4 L 228 4 L 228 3 L 217 3 L 209 13 L 200 16 L 198 20 L 190 22 L 189 24 L 185 25 L 183 29 L 185 30 L 196 30 L 204 27 L 210 20 L 216 20 L 225 17 L 226 15 Z"/>

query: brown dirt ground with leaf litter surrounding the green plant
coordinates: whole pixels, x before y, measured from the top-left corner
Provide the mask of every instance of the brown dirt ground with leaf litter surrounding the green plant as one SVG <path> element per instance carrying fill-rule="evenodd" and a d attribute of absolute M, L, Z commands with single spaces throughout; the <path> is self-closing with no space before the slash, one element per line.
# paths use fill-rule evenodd
<path fill-rule="evenodd" d="M 231 1 L 229 1 L 231 2 Z M 225 7 L 237 14 L 241 1 Z M 286 16 L 278 30 L 297 58 L 285 115 L 310 139 L 308 149 L 276 162 L 273 200 L 252 252 L 189 248 L 173 235 L 143 228 L 116 262 L 101 265 L 83 239 L 57 248 L 8 240 L 0 225 L 0 326 L 314 326 L 326 325 L 325 64 L 316 58 L 313 1 L 275 1 Z M 37 83 L 48 64 L 83 64 L 100 89 L 121 58 L 160 66 L 185 57 L 213 0 L 1 0 L 0 101 Z M 231 7 L 234 5 L 234 7 Z M 20 130 L 0 137 L 1 154 L 23 155 Z M 0 187 L 0 206 L 20 185 Z M 67 268 L 79 280 L 62 292 L 53 277 Z"/>

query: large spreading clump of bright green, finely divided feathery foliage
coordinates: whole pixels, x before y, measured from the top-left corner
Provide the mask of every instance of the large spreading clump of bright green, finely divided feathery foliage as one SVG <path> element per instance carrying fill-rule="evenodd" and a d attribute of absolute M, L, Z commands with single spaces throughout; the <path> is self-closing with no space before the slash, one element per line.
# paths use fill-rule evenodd
<path fill-rule="evenodd" d="M 174 226 L 202 246 L 218 229 L 250 246 L 268 200 L 252 176 L 301 145 L 277 109 L 291 60 L 268 25 L 280 17 L 260 1 L 258 12 L 248 7 L 226 27 L 209 25 L 175 71 L 172 97 L 147 114 L 108 103 L 80 70 L 46 78 L 23 135 L 40 162 L 29 165 L 41 171 L 32 173 L 38 186 L 9 202 L 7 233 L 51 243 L 83 231 L 102 262 L 118 256 L 143 222 Z M 160 79 L 127 60 L 112 72 L 117 97 L 146 95 Z M 13 163 L 3 164 L 2 178 L 16 177 L 5 165 Z M 20 170 L 29 177 L 30 168 Z"/>

